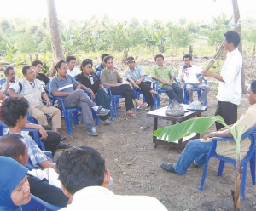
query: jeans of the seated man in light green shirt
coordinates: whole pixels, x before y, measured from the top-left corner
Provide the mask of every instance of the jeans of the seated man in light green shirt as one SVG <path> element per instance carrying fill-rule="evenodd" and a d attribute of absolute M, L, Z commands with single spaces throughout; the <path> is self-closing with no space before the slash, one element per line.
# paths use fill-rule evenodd
<path fill-rule="evenodd" d="M 178 103 L 184 102 L 183 89 L 180 88 L 177 83 L 172 83 L 172 85 L 163 85 L 161 89 L 166 90 L 166 94 L 172 100 L 177 100 Z"/>

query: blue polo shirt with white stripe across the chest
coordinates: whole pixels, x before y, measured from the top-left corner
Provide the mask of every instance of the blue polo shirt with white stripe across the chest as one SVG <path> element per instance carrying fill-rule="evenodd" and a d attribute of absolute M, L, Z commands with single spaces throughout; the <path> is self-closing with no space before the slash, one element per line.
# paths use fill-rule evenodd
<path fill-rule="evenodd" d="M 73 90 L 75 90 L 78 85 L 79 83 L 69 75 L 66 75 L 65 80 L 56 76 L 51 79 L 49 84 L 49 93 L 51 94 L 53 91 L 73 92 Z M 62 99 L 64 98 L 65 97 L 62 97 Z"/>

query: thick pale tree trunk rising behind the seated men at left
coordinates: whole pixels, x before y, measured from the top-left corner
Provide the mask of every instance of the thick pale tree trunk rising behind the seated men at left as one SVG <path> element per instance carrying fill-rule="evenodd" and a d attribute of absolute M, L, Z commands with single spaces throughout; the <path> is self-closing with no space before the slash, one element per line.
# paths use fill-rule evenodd
<path fill-rule="evenodd" d="M 49 19 L 51 48 L 54 55 L 53 63 L 55 65 L 59 60 L 64 60 L 58 17 L 55 7 L 55 0 L 47 0 L 47 10 Z M 54 76 L 55 68 L 51 68 L 48 75 L 49 77 Z"/>

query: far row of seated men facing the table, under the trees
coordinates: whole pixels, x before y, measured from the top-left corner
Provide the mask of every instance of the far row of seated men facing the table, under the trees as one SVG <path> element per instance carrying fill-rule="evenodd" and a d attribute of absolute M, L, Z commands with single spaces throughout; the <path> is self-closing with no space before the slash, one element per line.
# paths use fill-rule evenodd
<path fill-rule="evenodd" d="M 172 100 L 177 100 L 183 104 L 183 88 L 175 79 L 175 75 L 170 66 L 164 64 L 164 56 L 157 54 L 154 57 L 156 65 L 152 67 L 151 77 L 159 82 L 159 88 L 166 90 L 166 94 Z M 189 54 L 183 56 L 184 66 L 180 68 L 178 78 L 186 83 L 186 92 L 189 94 L 189 102 L 193 101 L 192 88 L 201 88 L 200 101 L 203 104 L 207 99 L 209 87 L 201 83 L 201 77 L 196 74 L 201 73 L 199 66 L 191 66 Z M 66 108 L 80 107 L 82 109 L 84 127 L 87 133 L 96 136 L 95 124 L 91 109 L 100 116 L 102 123 L 108 125 L 110 122 L 109 105 L 111 103 L 108 90 L 113 95 L 122 94 L 125 97 L 126 115 L 136 117 L 132 111 L 135 103 L 136 107 L 148 107 L 149 111 L 155 109 L 154 100 L 160 99 L 160 94 L 151 86 L 152 79 L 143 70 L 143 66 L 137 66 L 132 56 L 127 58 L 127 69 L 125 70 L 125 81 L 120 77 L 119 72 L 113 69 L 113 57 L 109 54 L 102 54 L 102 63 L 96 67 L 96 72 L 92 71 L 92 60 L 83 60 L 80 70 L 75 67 L 76 58 L 67 56 L 66 61 L 61 60 L 55 65 L 57 71 L 55 77 L 49 79 L 40 71 L 43 63 L 40 60 L 32 62 L 32 66 L 24 66 L 22 73 L 24 78 L 19 82 L 15 79 L 14 67 L 7 67 L 5 76 L 6 83 L 2 86 L 3 94 L 9 96 L 23 96 L 29 102 L 28 114 L 37 120 L 39 125 L 47 125 L 47 116 L 51 117 L 52 130 L 61 128 L 61 111 L 51 106 L 55 97 L 60 97 L 64 101 Z M 146 102 L 137 99 L 133 88 L 141 90 Z M 47 84 L 49 83 L 49 86 Z M 49 90 L 48 88 L 49 87 Z M 92 99 L 84 90 L 90 92 Z M 44 102 L 43 102 L 43 100 Z"/>

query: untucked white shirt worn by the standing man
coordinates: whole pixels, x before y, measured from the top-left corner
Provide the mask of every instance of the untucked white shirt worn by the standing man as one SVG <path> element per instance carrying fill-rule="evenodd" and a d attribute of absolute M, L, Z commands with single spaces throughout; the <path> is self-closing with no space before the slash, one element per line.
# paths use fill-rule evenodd
<path fill-rule="evenodd" d="M 240 104 L 241 100 L 241 53 L 236 48 L 228 52 L 227 59 L 224 61 L 220 76 L 224 82 L 218 85 L 218 101 L 230 102 L 235 105 Z"/>

